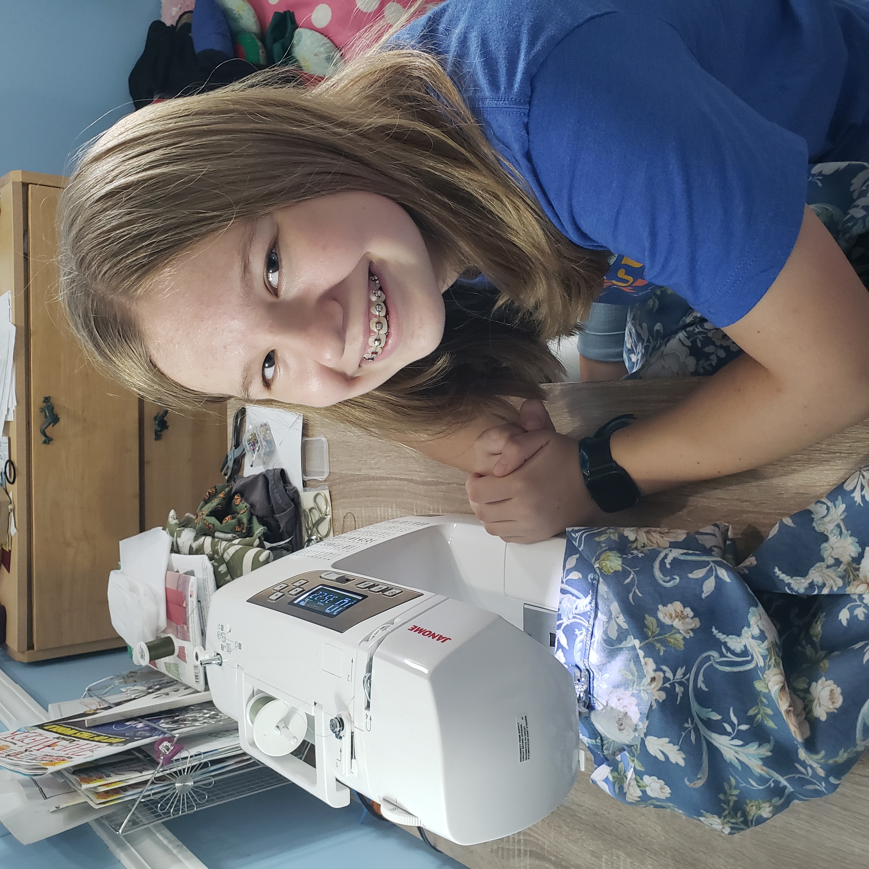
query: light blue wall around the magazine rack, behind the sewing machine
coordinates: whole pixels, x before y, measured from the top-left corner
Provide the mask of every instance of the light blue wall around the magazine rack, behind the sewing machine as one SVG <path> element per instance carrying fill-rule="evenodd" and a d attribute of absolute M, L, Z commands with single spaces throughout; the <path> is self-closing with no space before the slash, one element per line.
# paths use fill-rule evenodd
<path fill-rule="evenodd" d="M 125 650 L 20 664 L 0 647 L 0 669 L 41 706 L 81 697 L 104 676 L 133 668 Z M 435 869 L 461 864 L 400 827 L 333 809 L 295 785 L 224 803 L 166 825 L 209 869 Z M 90 826 L 23 846 L 0 825 L 0 869 L 120 869 Z"/>

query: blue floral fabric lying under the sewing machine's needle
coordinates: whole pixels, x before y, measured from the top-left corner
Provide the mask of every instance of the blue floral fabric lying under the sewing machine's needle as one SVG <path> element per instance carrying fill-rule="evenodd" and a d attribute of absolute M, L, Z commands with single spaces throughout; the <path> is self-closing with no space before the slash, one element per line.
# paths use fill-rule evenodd
<path fill-rule="evenodd" d="M 869 745 L 869 465 L 735 566 L 726 525 L 572 528 L 556 657 L 592 779 L 722 833 L 832 793 Z"/>

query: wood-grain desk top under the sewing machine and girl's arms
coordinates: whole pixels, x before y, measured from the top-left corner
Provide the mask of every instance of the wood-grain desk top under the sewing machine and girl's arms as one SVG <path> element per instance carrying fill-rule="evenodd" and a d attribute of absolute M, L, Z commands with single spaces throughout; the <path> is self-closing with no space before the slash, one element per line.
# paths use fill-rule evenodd
<path fill-rule="evenodd" d="M 652 414 L 698 385 L 693 379 L 566 383 L 548 388 L 548 405 L 560 431 L 588 434 L 618 414 Z M 323 434 L 329 441 L 327 483 L 336 532 L 407 514 L 470 512 L 459 471 L 347 428 L 311 426 L 308 434 Z M 747 553 L 779 517 L 826 494 L 867 457 L 869 425 L 863 423 L 766 468 L 648 498 L 616 521 L 688 530 L 728 521 Z M 580 773 L 559 808 L 522 833 L 478 846 L 456 846 L 437 837 L 435 844 L 472 869 L 869 866 L 865 757 L 832 796 L 792 806 L 735 836 L 673 812 L 622 806 L 589 781 L 590 772 Z"/>

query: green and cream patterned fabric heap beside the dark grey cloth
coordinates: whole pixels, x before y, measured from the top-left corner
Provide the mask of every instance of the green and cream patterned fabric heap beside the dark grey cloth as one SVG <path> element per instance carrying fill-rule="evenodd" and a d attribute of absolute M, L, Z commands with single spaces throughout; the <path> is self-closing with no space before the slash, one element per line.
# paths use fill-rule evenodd
<path fill-rule="evenodd" d="M 171 510 L 166 522 L 172 551 L 206 555 L 214 567 L 218 588 L 274 559 L 264 546 L 265 528 L 247 501 L 231 490 L 228 483 L 213 486 L 195 516 L 188 513 L 179 520 Z"/>

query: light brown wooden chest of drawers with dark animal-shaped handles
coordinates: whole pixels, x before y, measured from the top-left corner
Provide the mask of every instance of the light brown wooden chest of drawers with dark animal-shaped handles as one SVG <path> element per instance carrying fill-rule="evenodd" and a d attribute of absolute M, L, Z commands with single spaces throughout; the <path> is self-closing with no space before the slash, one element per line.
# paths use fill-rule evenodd
<path fill-rule="evenodd" d="M 12 294 L 17 408 L 5 424 L 17 479 L 8 487 L 17 534 L 0 568 L 7 651 L 41 660 L 123 646 L 106 602 L 118 541 L 196 507 L 221 481 L 219 412 L 153 416 L 98 374 L 66 331 L 56 302 L 55 217 L 63 178 L 12 172 L 0 180 L 0 293 Z M 43 399 L 59 422 L 43 442 Z"/>

